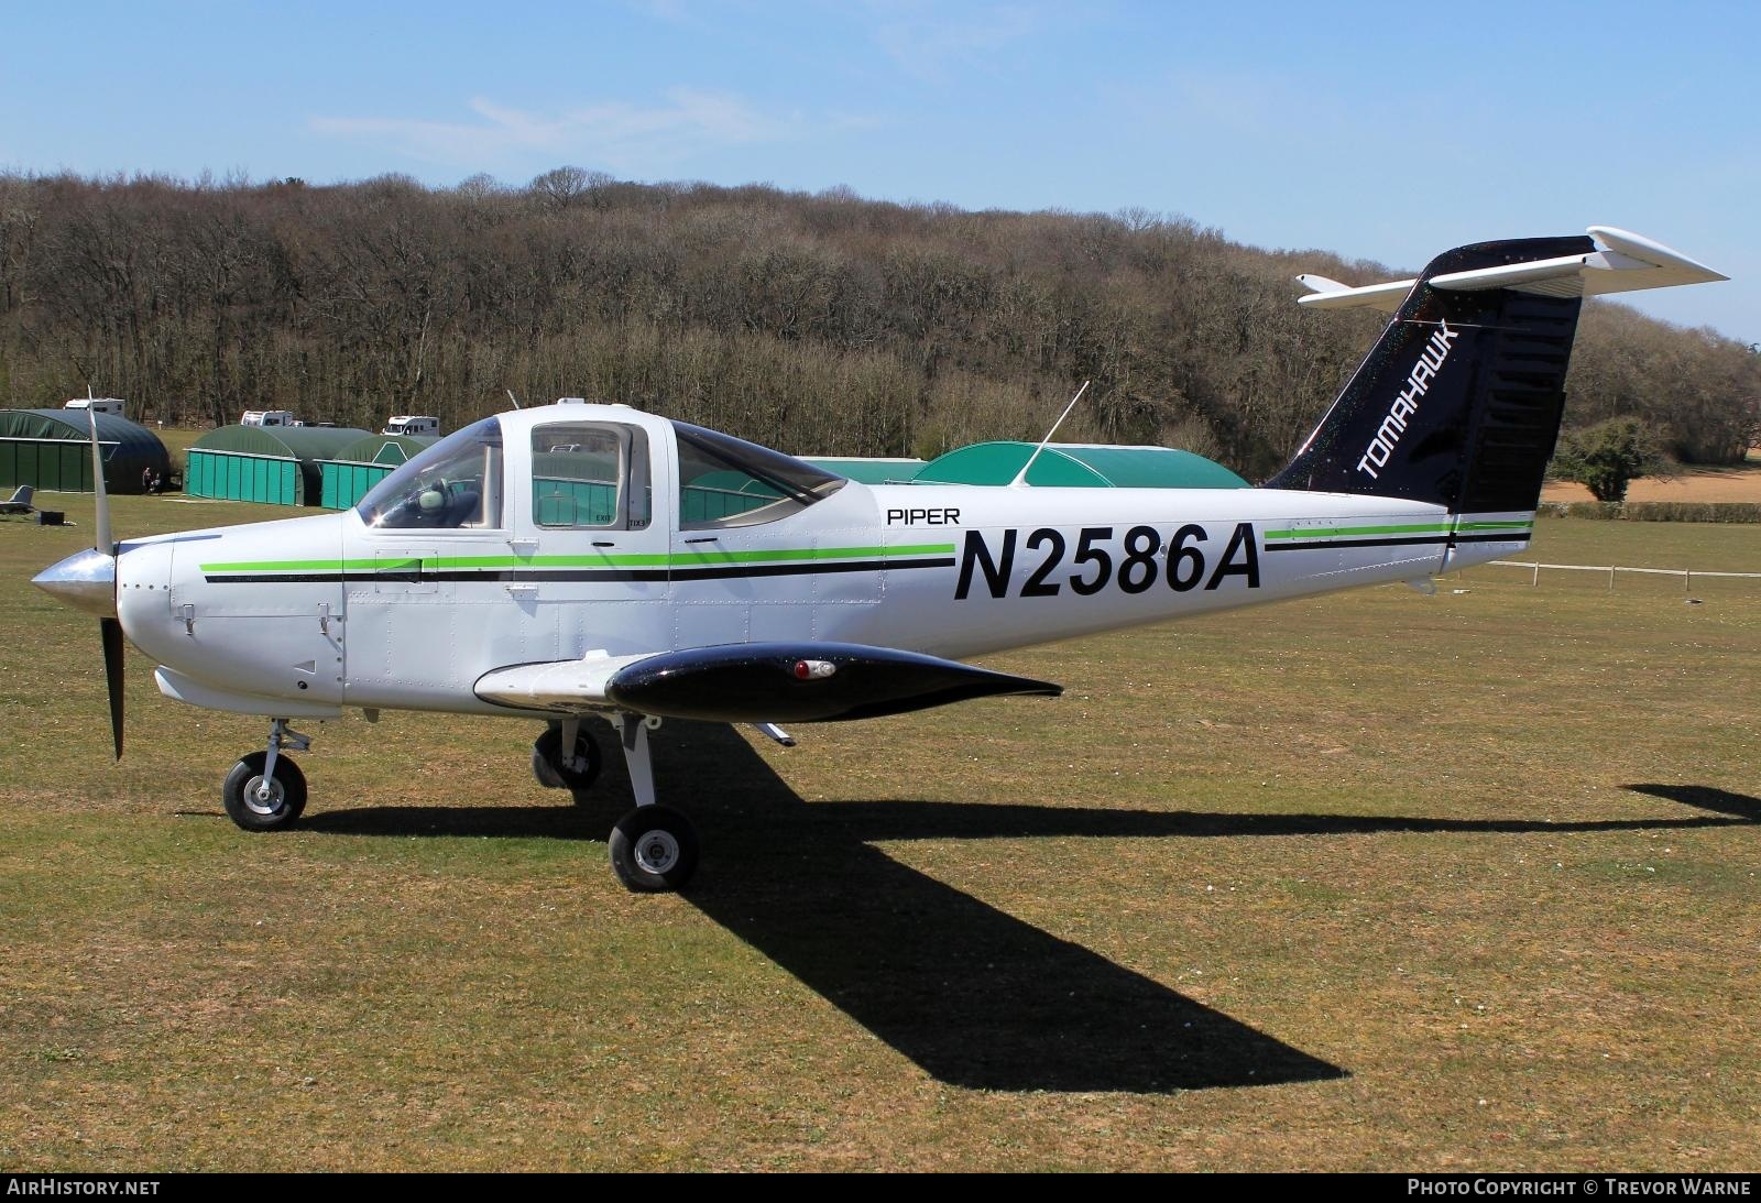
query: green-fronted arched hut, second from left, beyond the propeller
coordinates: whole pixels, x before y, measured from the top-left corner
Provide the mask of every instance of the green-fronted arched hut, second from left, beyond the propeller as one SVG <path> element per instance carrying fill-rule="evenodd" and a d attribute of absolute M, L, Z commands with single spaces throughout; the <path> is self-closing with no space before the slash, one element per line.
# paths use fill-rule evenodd
<path fill-rule="evenodd" d="M 229 502 L 271 506 L 317 506 L 324 497 L 324 472 L 365 430 L 343 426 L 220 426 L 190 447 L 183 491 Z"/>

